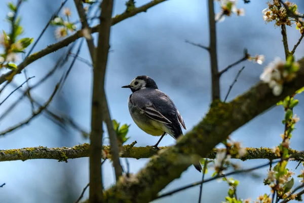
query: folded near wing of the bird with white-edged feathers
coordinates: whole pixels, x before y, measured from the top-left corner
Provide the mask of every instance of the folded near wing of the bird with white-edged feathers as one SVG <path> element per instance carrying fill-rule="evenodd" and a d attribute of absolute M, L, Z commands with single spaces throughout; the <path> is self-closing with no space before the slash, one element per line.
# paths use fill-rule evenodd
<path fill-rule="evenodd" d="M 142 92 L 140 92 L 142 93 Z M 139 108 L 149 118 L 159 121 L 165 124 L 171 124 L 172 122 L 167 119 L 162 113 L 160 113 L 153 102 L 146 97 L 146 94 L 138 94 L 134 92 L 131 96 L 131 103 Z"/>

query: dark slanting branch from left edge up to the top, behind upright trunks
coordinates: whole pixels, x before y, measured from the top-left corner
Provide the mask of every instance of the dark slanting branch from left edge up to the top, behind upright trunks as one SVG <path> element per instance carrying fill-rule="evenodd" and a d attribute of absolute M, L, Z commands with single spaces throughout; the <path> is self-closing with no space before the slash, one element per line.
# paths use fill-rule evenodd
<path fill-rule="evenodd" d="M 141 13 L 141 12 L 146 12 L 147 9 L 153 7 L 153 6 L 156 6 L 162 2 L 165 2 L 167 0 L 154 0 L 154 1 L 151 1 L 150 3 L 147 3 L 141 7 L 138 7 L 138 8 L 135 8 L 133 9 L 132 11 L 130 12 L 124 12 L 120 15 L 117 15 L 115 17 L 112 18 L 112 21 L 111 21 L 111 25 L 115 25 L 127 18 L 130 18 L 132 16 L 135 16 L 136 14 L 138 13 Z M 94 32 L 97 32 L 98 31 L 98 28 L 99 28 L 99 25 L 96 25 L 94 27 L 91 27 L 91 33 L 94 33 Z M 82 38 L 84 37 L 84 33 L 83 33 L 83 29 L 81 30 L 78 30 L 77 32 L 75 32 L 73 35 L 55 43 L 55 44 L 51 44 L 51 45 L 48 45 L 46 48 L 42 49 L 41 51 L 38 51 L 36 53 L 33 53 L 31 55 L 29 55 L 28 57 L 25 58 L 24 61 L 22 61 L 18 67 L 17 67 L 17 70 L 16 71 L 9 71 L 3 75 L 0 76 L 0 84 L 4 83 L 5 81 L 7 81 L 7 78 L 9 76 L 13 76 L 13 75 L 16 75 L 16 74 L 19 74 L 21 73 L 21 71 L 27 66 L 29 65 L 30 63 L 34 62 L 35 60 L 37 59 L 40 59 L 54 51 L 57 51 L 67 45 L 69 45 L 70 43 L 78 40 L 79 38 Z"/>

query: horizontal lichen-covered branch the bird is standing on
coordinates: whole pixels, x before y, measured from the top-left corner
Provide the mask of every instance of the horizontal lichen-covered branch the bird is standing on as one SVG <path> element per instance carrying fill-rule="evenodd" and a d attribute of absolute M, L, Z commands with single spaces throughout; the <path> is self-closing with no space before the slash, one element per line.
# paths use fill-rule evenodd
<path fill-rule="evenodd" d="M 158 150 L 153 147 L 134 147 L 133 144 L 123 146 L 121 153 L 122 158 L 150 158 L 157 155 Z M 16 160 L 29 160 L 29 159 L 54 159 L 58 161 L 67 161 L 68 159 L 89 157 L 88 143 L 82 145 L 76 145 L 74 147 L 60 147 L 60 148 L 47 148 L 47 147 L 29 147 L 22 149 L 9 149 L 0 150 L 0 161 L 16 161 Z M 168 147 L 160 147 L 160 149 L 166 149 Z M 103 150 L 110 152 L 110 146 L 103 146 Z M 246 148 L 247 153 L 241 158 L 241 160 L 249 159 L 275 159 L 278 158 L 272 152 L 270 148 Z M 206 158 L 214 159 L 218 149 L 213 149 Z M 293 149 L 289 150 L 289 154 L 298 154 L 299 152 Z M 105 157 L 103 157 L 105 158 Z M 107 158 L 111 158 L 111 155 Z M 233 156 L 232 158 L 239 159 Z M 295 157 L 295 160 L 303 161 L 304 154 L 300 154 Z"/>

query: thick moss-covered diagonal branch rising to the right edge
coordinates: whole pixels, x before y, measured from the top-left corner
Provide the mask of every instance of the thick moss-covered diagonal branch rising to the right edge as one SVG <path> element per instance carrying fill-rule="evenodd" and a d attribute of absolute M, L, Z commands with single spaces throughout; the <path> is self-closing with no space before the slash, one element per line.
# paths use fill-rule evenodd
<path fill-rule="evenodd" d="M 230 103 L 212 103 L 205 118 L 150 161 L 136 176 L 124 176 L 115 186 L 105 191 L 107 202 L 149 202 L 158 192 L 199 157 L 206 157 L 212 148 L 225 140 L 233 131 L 276 105 L 279 100 L 293 94 L 304 86 L 304 59 L 299 61 L 300 70 L 296 78 L 284 85 L 280 96 L 274 96 L 268 84 L 257 83 Z M 117 195 L 119 194 L 119 195 Z"/>

